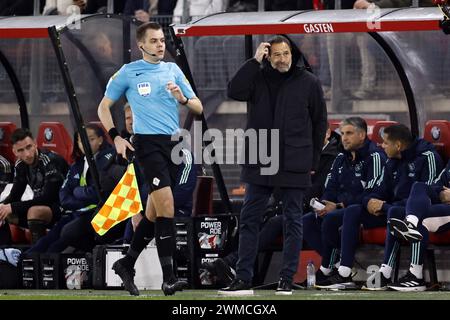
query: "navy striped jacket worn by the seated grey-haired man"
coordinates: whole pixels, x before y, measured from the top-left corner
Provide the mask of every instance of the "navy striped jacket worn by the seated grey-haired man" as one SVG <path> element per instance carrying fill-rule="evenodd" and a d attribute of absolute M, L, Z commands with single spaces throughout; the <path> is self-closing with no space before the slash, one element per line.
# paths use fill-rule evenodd
<path fill-rule="evenodd" d="M 349 151 L 339 153 L 325 181 L 323 200 L 343 203 L 345 207 L 361 203 L 380 177 L 386 155 L 369 139 L 356 151 L 355 160 Z"/>

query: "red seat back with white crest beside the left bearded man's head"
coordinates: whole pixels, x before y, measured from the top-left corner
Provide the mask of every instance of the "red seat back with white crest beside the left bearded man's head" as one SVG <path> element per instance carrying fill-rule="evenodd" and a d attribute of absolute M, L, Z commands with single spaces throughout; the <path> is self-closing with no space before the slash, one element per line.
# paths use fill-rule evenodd
<path fill-rule="evenodd" d="M 54 151 L 71 164 L 73 142 L 72 137 L 60 122 L 42 122 L 37 134 L 39 148 Z"/>

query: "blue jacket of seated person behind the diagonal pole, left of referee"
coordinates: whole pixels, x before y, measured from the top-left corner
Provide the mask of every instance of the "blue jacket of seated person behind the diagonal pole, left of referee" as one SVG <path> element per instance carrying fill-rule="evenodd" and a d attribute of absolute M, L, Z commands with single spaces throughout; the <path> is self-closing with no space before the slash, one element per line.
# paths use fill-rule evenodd
<path fill-rule="evenodd" d="M 95 155 L 95 164 L 97 170 L 103 171 L 103 168 L 115 157 L 115 150 L 111 146 L 99 150 Z M 59 191 L 59 200 L 61 207 L 68 211 L 87 211 L 89 206 L 97 205 L 99 202 L 97 192 L 92 183 L 92 177 L 86 173 L 86 186 L 80 186 L 80 178 L 84 169 L 84 157 L 77 160 L 69 168 L 66 179 Z"/>

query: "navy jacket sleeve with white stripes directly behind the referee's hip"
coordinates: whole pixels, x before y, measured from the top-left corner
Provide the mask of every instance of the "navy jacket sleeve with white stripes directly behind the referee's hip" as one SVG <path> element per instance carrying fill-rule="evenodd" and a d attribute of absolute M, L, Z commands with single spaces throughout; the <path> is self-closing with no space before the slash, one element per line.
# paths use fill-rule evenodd
<path fill-rule="evenodd" d="M 192 214 L 195 186 L 197 185 L 197 172 L 199 166 L 194 164 L 192 153 L 183 150 L 183 162 L 180 164 L 177 173 L 176 184 L 173 188 L 173 202 L 175 206 L 175 216 L 188 217 Z"/>

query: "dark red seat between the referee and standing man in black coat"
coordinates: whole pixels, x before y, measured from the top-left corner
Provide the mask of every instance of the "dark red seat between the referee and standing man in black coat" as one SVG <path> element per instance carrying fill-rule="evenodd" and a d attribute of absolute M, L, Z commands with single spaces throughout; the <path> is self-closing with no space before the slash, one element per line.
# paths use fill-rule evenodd
<path fill-rule="evenodd" d="M 198 176 L 194 190 L 192 216 L 213 214 L 214 177 Z"/>

